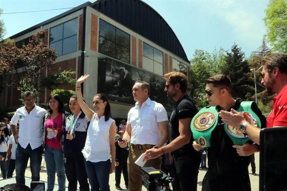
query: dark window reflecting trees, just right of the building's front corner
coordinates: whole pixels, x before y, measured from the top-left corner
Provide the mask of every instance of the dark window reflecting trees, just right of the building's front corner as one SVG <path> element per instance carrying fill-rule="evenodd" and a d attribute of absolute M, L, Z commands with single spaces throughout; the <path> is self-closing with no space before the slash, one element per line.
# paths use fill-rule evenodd
<path fill-rule="evenodd" d="M 99 52 L 129 63 L 130 36 L 100 19 Z"/>

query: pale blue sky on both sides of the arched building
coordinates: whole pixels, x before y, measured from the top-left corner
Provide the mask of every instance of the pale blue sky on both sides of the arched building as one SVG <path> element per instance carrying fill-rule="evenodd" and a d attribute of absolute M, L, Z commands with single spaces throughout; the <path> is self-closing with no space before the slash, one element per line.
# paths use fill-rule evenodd
<path fill-rule="evenodd" d="M 1 0 L 3 13 L 76 7 L 87 0 Z M 122 0 L 123 1 L 123 0 Z M 174 30 L 187 58 L 195 49 L 212 52 L 214 47 L 230 49 L 234 42 L 245 56 L 260 46 L 266 28 L 262 19 L 268 0 L 144 0 Z M 92 2 L 92 1 L 91 1 Z M 1 15 L 7 28 L 5 38 L 67 11 L 53 10 L 34 13 Z"/>

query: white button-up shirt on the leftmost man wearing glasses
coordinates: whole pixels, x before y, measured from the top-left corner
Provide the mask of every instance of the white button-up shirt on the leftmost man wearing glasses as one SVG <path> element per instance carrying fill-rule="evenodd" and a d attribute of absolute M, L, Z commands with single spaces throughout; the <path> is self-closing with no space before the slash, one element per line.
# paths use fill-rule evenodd
<path fill-rule="evenodd" d="M 16 110 L 11 119 L 11 125 L 17 125 L 19 120 L 19 138 L 21 147 L 26 148 L 30 143 L 32 149 L 42 145 L 43 119 L 47 111 L 39 106 L 33 108 L 28 114 L 26 107 Z"/>

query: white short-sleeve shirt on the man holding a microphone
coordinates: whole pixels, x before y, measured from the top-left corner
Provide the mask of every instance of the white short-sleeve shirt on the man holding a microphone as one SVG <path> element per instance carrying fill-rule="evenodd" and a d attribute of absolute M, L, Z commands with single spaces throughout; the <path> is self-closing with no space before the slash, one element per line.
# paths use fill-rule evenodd
<path fill-rule="evenodd" d="M 132 126 L 131 143 L 157 144 L 161 136 L 158 122 L 167 120 L 167 111 L 162 104 L 148 98 L 140 109 L 136 102 L 135 107 L 129 110 L 127 121 Z"/>

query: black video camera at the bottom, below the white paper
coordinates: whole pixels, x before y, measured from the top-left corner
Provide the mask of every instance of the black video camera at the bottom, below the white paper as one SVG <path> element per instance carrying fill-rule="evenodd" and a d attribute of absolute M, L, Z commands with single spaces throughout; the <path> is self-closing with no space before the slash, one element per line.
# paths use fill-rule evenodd
<path fill-rule="evenodd" d="M 142 167 L 141 172 L 141 179 L 147 191 L 172 191 L 169 183 L 173 181 L 173 178 L 163 171 L 154 167 Z"/>

